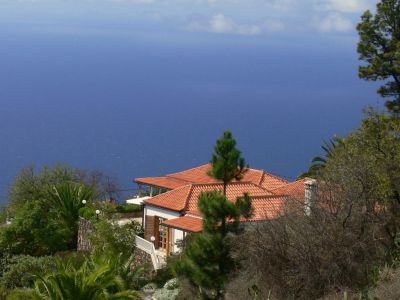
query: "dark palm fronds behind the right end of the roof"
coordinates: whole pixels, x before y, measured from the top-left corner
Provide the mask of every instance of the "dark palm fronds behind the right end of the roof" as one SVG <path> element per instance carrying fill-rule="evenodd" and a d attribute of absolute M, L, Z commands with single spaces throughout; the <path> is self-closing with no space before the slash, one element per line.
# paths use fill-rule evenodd
<path fill-rule="evenodd" d="M 324 156 L 315 156 L 311 160 L 311 167 L 308 171 L 302 173 L 298 178 L 315 177 L 326 167 L 329 159 L 334 155 L 336 148 L 343 144 L 343 138 L 336 135 L 332 139 L 329 139 L 329 141 L 324 141 L 324 144 L 321 146 L 322 150 L 325 152 Z"/>

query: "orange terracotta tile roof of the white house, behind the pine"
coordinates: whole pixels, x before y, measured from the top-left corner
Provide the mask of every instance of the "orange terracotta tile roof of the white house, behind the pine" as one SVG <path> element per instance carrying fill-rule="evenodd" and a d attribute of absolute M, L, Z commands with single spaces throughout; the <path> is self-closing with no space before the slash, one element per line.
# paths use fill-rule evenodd
<path fill-rule="evenodd" d="M 136 181 L 172 189 L 145 200 L 146 204 L 182 211 L 191 214 L 193 218 L 200 216 L 198 198 L 201 192 L 223 190 L 221 182 L 207 175 L 210 168 L 211 165 L 206 164 L 164 177 L 138 178 Z M 248 193 L 254 208 L 254 216 L 250 221 L 273 219 L 283 212 L 287 197 L 304 199 L 305 181 L 288 182 L 262 170 L 248 169 L 241 181 L 227 186 L 227 198 L 235 201 L 243 193 Z"/>

